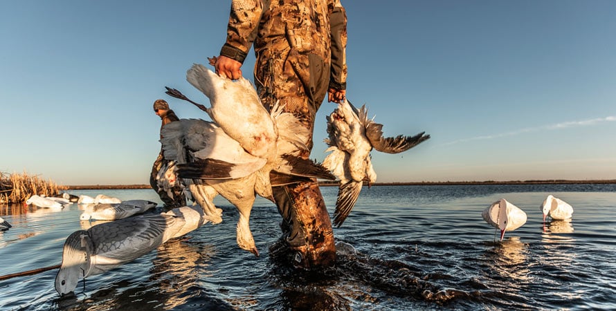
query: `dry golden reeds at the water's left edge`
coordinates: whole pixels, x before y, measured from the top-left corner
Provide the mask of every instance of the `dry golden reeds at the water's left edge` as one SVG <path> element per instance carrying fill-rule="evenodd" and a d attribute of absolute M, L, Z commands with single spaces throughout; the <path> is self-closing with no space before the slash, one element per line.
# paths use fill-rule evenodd
<path fill-rule="evenodd" d="M 54 196 L 62 187 L 52 180 L 43 180 L 38 176 L 0 172 L 0 203 L 20 203 L 28 200 L 34 194 Z"/>

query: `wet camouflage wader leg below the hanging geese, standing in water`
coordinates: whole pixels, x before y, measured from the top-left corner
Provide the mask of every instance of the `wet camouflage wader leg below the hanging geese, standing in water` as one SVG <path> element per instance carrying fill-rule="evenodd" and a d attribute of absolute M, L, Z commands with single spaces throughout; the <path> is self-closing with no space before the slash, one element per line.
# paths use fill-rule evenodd
<path fill-rule="evenodd" d="M 334 232 L 323 196 L 316 182 L 273 187 L 273 197 L 282 215 L 280 225 L 284 242 L 274 247 L 280 253 L 286 246 L 296 267 L 328 267 L 336 260 Z M 285 245 L 286 244 L 286 245 Z"/>

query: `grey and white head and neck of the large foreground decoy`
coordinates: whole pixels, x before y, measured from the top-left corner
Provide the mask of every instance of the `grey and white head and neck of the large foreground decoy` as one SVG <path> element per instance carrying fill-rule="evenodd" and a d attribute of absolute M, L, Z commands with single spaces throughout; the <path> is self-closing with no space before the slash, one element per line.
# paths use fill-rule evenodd
<path fill-rule="evenodd" d="M 87 231 L 73 232 L 62 249 L 62 266 L 55 276 L 55 290 L 61 296 L 73 292 L 80 278 L 89 274 L 92 241 Z"/>

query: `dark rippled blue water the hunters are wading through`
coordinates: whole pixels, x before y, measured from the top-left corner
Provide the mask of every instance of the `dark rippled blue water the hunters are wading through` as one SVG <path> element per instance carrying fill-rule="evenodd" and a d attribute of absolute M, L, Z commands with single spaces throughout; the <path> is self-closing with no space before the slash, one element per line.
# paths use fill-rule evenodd
<path fill-rule="evenodd" d="M 330 211 L 336 187 L 322 187 Z M 154 191 L 91 190 L 161 204 Z M 575 209 L 543 229 L 548 194 Z M 498 242 L 481 211 L 500 198 L 528 220 Z M 341 228 L 336 266 L 289 270 L 269 259 L 280 235 L 274 205 L 257 199 L 251 229 L 261 256 L 235 245 L 235 208 L 215 200 L 207 224 L 132 263 L 89 276 L 60 298 L 57 270 L 0 281 L 1 310 L 577 310 L 616 309 L 616 185 L 377 186 L 363 189 Z M 0 207 L 0 275 L 60 264 L 62 245 L 87 228 L 62 211 Z M 356 253 L 350 252 L 354 247 Z"/>

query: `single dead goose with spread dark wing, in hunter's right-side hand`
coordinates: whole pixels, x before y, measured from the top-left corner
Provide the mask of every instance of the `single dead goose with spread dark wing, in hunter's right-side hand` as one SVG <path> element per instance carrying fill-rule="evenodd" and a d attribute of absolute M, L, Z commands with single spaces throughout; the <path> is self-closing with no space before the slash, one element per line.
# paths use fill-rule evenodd
<path fill-rule="evenodd" d="M 323 166 L 334 173 L 340 181 L 334 225 L 340 227 L 354 207 L 364 181 L 372 185 L 377 173 L 372 167 L 370 151 L 376 149 L 384 153 L 401 153 L 430 138 L 425 132 L 415 136 L 398 135 L 395 138 L 383 137 L 383 125 L 368 119 L 365 105 L 356 109 L 343 100 L 327 117 L 325 142 L 331 152 L 323 160 Z"/>

